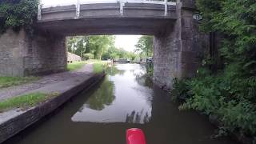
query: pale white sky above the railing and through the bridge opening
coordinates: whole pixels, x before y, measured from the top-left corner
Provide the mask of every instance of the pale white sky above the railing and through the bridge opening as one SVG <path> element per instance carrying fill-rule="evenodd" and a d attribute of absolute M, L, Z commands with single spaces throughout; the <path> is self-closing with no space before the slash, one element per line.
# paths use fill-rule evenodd
<path fill-rule="evenodd" d="M 80 0 L 80 2 L 110 2 L 110 1 L 117 1 L 117 0 Z M 77 0 L 41 0 L 43 6 L 62 6 L 62 5 L 69 5 L 75 4 Z M 138 38 L 140 35 L 115 35 L 116 41 L 115 46 L 118 48 L 123 48 L 127 51 L 134 51 L 135 46 L 138 42 Z"/>

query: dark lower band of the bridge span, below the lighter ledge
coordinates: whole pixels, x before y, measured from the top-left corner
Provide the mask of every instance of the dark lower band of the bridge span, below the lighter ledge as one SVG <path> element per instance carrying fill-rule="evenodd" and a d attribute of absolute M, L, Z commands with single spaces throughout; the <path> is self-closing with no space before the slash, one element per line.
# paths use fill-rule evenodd
<path fill-rule="evenodd" d="M 142 34 L 166 33 L 175 20 L 164 18 L 92 18 L 40 22 L 38 28 L 60 35 L 79 34 Z"/>

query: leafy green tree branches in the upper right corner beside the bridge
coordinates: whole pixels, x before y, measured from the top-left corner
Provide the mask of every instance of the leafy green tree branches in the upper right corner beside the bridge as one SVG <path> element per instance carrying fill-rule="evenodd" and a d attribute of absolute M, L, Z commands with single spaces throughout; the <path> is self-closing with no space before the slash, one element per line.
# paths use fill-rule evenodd
<path fill-rule="evenodd" d="M 204 16 L 202 30 L 224 34 L 219 52 L 225 63 L 239 63 L 245 73 L 255 74 L 256 2 L 198 0 L 197 6 Z"/>

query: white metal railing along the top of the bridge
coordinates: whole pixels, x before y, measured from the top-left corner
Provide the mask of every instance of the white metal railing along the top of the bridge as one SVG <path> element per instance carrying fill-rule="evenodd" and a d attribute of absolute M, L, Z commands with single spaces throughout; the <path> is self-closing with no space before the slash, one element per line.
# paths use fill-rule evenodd
<path fill-rule="evenodd" d="M 47 5 L 46 3 L 42 1 L 48 1 L 51 4 Z M 58 3 L 57 3 L 58 2 Z M 61 4 L 60 4 L 61 3 Z M 70 2 L 70 0 L 61 0 L 61 1 L 53 1 L 53 0 L 39 0 L 39 6 L 38 6 L 38 20 L 41 20 L 42 18 L 42 8 L 49 8 L 49 7 L 57 7 L 57 6 L 76 6 L 76 15 L 75 19 L 79 18 L 80 15 L 80 5 L 83 4 L 96 4 L 96 3 L 119 3 L 120 5 L 120 14 L 123 15 L 123 7 L 126 5 L 126 3 L 145 3 L 145 4 L 158 4 L 158 5 L 164 5 L 165 11 L 164 15 L 167 16 L 168 14 L 168 6 L 176 6 L 176 2 L 167 2 L 167 0 L 74 0 L 73 2 Z"/>

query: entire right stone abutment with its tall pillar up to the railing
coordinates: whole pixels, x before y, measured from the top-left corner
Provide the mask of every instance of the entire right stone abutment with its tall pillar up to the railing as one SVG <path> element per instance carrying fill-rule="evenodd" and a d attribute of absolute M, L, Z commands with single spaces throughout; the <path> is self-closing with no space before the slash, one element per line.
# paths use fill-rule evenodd
<path fill-rule="evenodd" d="M 198 22 L 193 19 L 193 1 L 178 0 L 177 10 L 174 25 L 166 34 L 154 36 L 154 82 L 166 90 L 172 87 L 173 78 L 194 76 L 203 48 L 209 47 L 209 36 L 199 33 Z"/>

